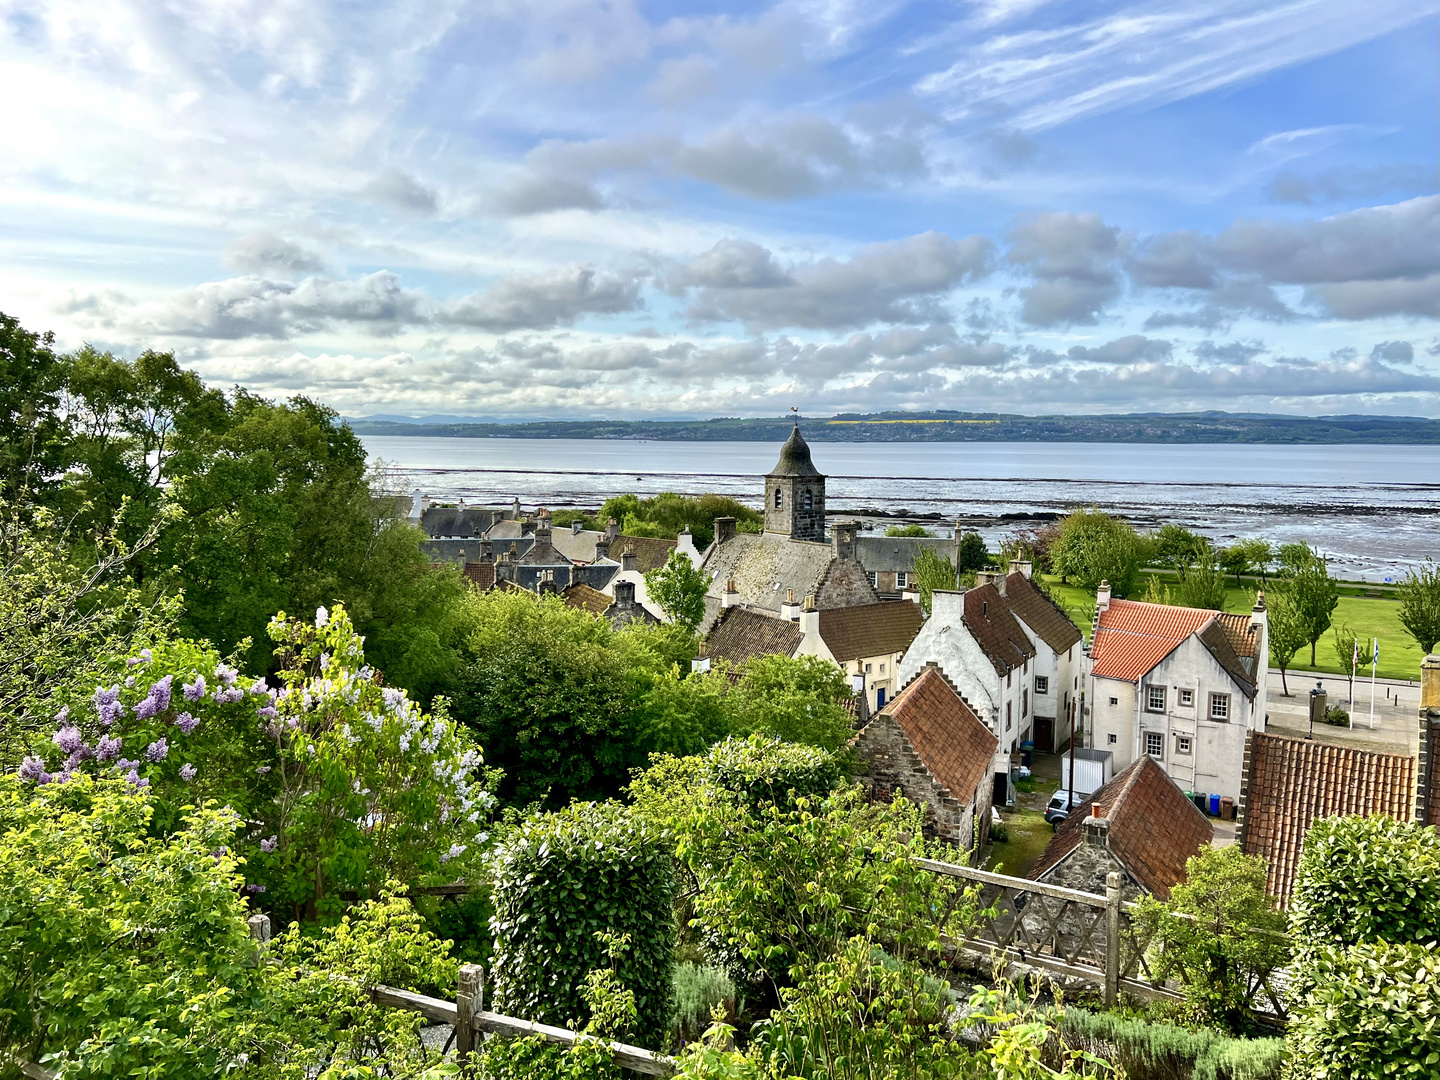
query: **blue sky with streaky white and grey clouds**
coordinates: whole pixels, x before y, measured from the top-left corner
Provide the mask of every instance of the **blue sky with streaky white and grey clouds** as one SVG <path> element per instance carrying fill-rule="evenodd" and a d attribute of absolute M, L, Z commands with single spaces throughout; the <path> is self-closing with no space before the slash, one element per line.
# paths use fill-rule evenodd
<path fill-rule="evenodd" d="M 0 0 L 0 310 L 350 416 L 1434 416 L 1437 23 Z"/>

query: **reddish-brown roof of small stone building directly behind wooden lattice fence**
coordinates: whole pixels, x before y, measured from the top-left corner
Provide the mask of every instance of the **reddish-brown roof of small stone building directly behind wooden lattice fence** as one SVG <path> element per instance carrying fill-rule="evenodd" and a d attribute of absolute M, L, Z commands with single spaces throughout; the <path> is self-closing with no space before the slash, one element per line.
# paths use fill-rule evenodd
<path fill-rule="evenodd" d="M 1089 801 L 1060 822 L 1028 877 L 1040 880 L 1084 842 L 1084 819 L 1109 818 L 1106 847 L 1152 896 L 1165 900 L 1171 886 L 1185 878 L 1185 860 L 1210 847 L 1214 829 L 1149 756 L 1113 776 Z"/>

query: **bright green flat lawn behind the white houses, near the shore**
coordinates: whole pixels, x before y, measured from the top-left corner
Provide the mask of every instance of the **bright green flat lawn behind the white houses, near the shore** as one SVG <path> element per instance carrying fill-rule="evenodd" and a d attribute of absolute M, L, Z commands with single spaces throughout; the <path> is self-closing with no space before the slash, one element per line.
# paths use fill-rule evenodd
<path fill-rule="evenodd" d="M 1145 575 L 1140 576 L 1140 582 L 1135 589 L 1133 599 L 1139 599 L 1145 595 L 1146 580 Z M 1066 612 L 1074 619 L 1074 624 L 1084 631 L 1086 638 L 1090 636 L 1090 615 L 1094 611 L 1094 593 L 1089 593 L 1074 585 L 1061 585 L 1058 579 L 1045 576 L 1045 582 L 1050 585 L 1051 592 L 1054 592 L 1056 599 L 1066 605 Z M 1381 678 L 1404 678 L 1404 680 L 1418 680 L 1420 678 L 1420 661 L 1421 652 L 1416 639 L 1411 638 L 1405 628 L 1400 625 L 1400 602 L 1364 596 L 1365 592 L 1361 586 L 1341 586 L 1341 599 L 1335 606 L 1335 615 L 1331 616 L 1332 629 L 1326 631 L 1325 635 L 1316 642 L 1315 660 L 1316 665 L 1310 667 L 1310 648 L 1306 645 L 1303 649 L 1295 654 L 1292 665 L 1286 668 L 1286 675 L 1296 672 L 1296 675 L 1303 680 L 1306 672 L 1318 671 L 1329 675 L 1344 675 L 1349 670 L 1349 658 L 1341 664 L 1339 658 L 1335 655 L 1335 632 L 1333 626 L 1346 624 L 1351 629 L 1359 635 L 1361 652 L 1364 654 L 1369 647 L 1371 638 L 1380 638 L 1380 668 L 1377 674 Z M 1233 612 L 1247 612 L 1254 605 L 1253 592 L 1250 589 L 1236 589 L 1234 586 L 1225 590 L 1225 611 Z M 1274 658 L 1270 660 L 1272 667 L 1274 667 Z M 1361 671 L 1369 675 L 1369 665 L 1367 664 Z M 1356 672 L 1356 678 L 1361 672 Z"/>

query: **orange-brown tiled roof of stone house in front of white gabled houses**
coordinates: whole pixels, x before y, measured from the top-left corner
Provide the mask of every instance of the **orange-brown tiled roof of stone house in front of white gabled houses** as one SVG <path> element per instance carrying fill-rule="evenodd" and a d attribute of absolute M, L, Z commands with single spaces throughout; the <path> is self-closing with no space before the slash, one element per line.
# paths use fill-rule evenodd
<path fill-rule="evenodd" d="M 939 668 L 920 668 L 878 716 L 888 716 L 899 724 L 924 768 L 962 805 L 971 802 L 981 783 L 991 782 L 999 739 L 979 721 Z"/>

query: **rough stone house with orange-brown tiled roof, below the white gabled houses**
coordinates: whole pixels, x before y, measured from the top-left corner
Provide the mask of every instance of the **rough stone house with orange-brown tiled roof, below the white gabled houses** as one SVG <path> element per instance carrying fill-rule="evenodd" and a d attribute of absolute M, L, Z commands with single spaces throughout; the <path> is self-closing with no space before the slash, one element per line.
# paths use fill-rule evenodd
<path fill-rule="evenodd" d="M 927 834 L 968 852 L 989 838 L 996 744 L 935 667 L 907 683 L 854 743 L 873 799 L 899 791 L 924 808 Z"/>

